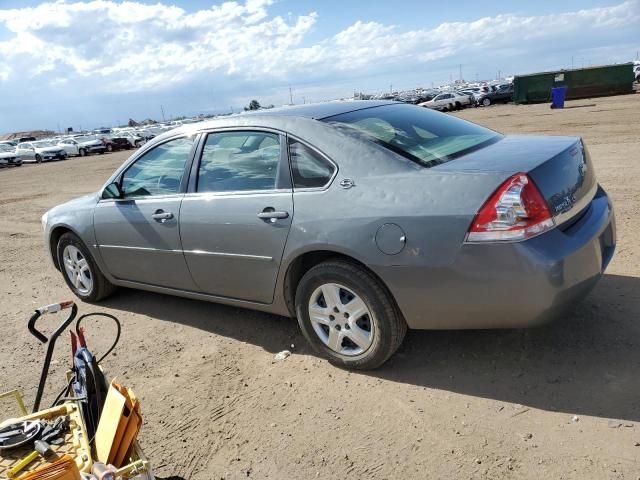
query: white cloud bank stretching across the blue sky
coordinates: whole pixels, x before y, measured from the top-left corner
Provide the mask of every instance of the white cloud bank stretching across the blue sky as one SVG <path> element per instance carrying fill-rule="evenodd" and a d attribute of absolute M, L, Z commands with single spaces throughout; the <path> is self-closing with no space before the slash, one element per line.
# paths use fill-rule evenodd
<path fill-rule="evenodd" d="M 273 3 L 227 1 L 187 12 L 163 3 L 58 0 L 0 9 L 0 30 L 9 33 L 0 41 L 0 88 L 10 85 L 26 97 L 73 88 L 86 98 L 194 84 L 233 92 L 234 82 L 238 89 L 244 83 L 264 91 L 286 82 L 324 88 L 350 77 L 442 69 L 443 62 L 489 65 L 520 58 L 520 65 L 540 68 L 545 54 L 561 48 L 611 51 L 636 42 L 629 32 L 640 31 L 640 0 L 628 0 L 414 30 L 353 19 L 343 31 L 310 42 L 318 15 L 274 16 Z M 618 41 L 621 32 L 627 35 Z"/>

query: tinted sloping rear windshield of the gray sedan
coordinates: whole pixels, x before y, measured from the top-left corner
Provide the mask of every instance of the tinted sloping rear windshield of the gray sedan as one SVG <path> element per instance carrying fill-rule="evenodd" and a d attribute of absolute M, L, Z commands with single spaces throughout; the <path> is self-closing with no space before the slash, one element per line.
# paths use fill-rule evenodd
<path fill-rule="evenodd" d="M 363 135 L 425 167 L 448 162 L 502 138 L 474 123 L 405 104 L 365 108 L 323 121 L 345 133 Z"/>

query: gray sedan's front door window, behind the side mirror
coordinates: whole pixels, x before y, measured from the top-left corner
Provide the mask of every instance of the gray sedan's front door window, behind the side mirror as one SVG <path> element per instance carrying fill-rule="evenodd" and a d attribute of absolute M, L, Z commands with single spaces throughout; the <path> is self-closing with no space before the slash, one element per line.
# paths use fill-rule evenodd
<path fill-rule="evenodd" d="M 193 142 L 193 138 L 171 140 L 136 160 L 122 176 L 124 197 L 178 193 Z"/>

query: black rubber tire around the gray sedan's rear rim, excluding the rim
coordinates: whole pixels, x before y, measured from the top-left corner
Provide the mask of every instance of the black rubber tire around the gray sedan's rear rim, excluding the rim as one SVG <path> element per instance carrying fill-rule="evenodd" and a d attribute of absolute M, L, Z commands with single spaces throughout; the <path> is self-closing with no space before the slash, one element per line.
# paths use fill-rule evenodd
<path fill-rule="evenodd" d="M 311 324 L 309 302 L 314 291 L 327 283 L 337 283 L 351 290 L 372 314 L 373 318 L 369 319 L 373 332 L 371 345 L 358 355 L 343 355 L 332 350 Z M 398 349 L 407 331 L 393 298 L 378 279 L 365 269 L 341 260 L 329 260 L 309 269 L 298 283 L 295 306 L 300 329 L 312 347 L 331 363 L 351 369 L 369 370 L 382 365 Z"/>

